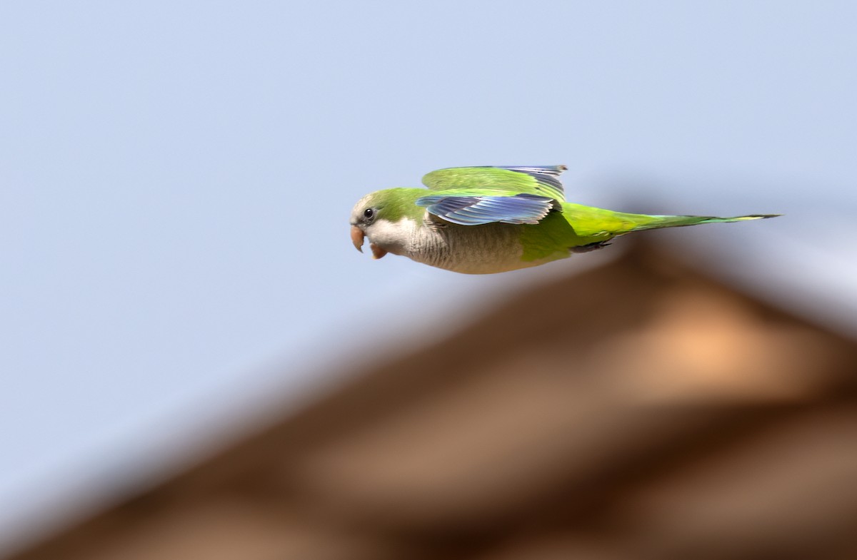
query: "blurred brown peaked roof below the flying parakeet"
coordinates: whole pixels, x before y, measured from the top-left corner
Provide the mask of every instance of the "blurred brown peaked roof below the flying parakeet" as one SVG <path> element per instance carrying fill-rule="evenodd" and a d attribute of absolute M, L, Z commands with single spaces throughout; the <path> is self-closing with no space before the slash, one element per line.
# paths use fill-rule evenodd
<path fill-rule="evenodd" d="M 857 557 L 854 341 L 649 246 L 448 328 L 15 559 Z"/>

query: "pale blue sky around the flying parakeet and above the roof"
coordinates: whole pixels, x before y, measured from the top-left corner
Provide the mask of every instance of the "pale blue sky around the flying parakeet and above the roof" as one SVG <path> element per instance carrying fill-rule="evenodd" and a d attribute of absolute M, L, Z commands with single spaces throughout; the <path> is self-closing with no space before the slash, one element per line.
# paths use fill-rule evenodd
<path fill-rule="evenodd" d="M 429 170 L 786 212 L 655 235 L 848 323 L 854 29 L 818 1 L 0 3 L 0 542 L 602 258 L 464 277 L 354 251 L 354 202 Z"/>

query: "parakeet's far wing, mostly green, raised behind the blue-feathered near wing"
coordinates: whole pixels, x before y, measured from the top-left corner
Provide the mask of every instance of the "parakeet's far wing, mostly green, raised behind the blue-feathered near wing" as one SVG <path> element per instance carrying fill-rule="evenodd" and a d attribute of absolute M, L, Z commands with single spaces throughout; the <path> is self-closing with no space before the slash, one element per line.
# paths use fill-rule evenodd
<path fill-rule="evenodd" d="M 565 165 L 548 167 L 452 167 L 423 177 L 423 184 L 434 191 L 477 196 L 514 196 L 532 194 L 564 202 L 566 195 L 560 182 Z"/>

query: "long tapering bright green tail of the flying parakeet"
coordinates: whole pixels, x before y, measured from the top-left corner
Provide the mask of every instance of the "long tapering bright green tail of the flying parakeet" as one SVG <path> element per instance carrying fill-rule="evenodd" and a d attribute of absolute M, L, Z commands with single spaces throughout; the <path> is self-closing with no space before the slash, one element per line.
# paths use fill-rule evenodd
<path fill-rule="evenodd" d="M 568 223 L 572 224 L 577 235 L 594 240 L 623 235 L 645 229 L 677 228 L 699 223 L 746 222 L 764 217 L 776 217 L 780 214 L 749 214 L 746 216 L 716 217 L 716 216 L 650 216 L 647 214 L 627 214 L 583 206 L 566 202 L 562 205 L 562 213 Z"/>

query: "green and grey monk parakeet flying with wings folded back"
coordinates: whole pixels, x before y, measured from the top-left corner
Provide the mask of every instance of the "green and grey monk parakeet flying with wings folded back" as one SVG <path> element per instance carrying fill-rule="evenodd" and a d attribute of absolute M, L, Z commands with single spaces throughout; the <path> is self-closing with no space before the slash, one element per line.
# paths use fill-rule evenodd
<path fill-rule="evenodd" d="M 372 255 L 405 255 L 467 274 L 489 274 L 565 259 L 607 245 L 617 235 L 697 223 L 741 222 L 737 217 L 647 216 L 566 202 L 549 167 L 454 167 L 423 177 L 424 188 L 367 194 L 351 211 L 351 241 Z"/>

